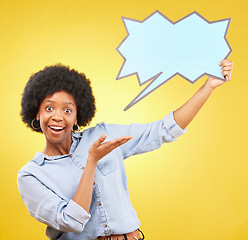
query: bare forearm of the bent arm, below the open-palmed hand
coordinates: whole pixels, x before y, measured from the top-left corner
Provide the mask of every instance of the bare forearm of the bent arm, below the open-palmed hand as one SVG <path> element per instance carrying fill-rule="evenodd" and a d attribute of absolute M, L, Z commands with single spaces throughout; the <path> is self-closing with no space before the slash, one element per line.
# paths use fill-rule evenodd
<path fill-rule="evenodd" d="M 72 198 L 74 202 L 80 205 L 88 213 L 92 199 L 96 164 L 97 163 L 95 162 L 89 161 L 89 159 L 87 160 L 77 191 Z"/>

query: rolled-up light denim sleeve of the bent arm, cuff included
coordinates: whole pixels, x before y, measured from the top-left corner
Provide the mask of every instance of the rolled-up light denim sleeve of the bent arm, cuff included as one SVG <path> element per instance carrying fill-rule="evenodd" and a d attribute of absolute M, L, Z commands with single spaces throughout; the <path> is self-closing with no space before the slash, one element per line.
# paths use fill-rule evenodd
<path fill-rule="evenodd" d="M 90 219 L 73 200 L 66 201 L 28 172 L 19 171 L 17 184 L 31 216 L 63 232 L 82 232 Z"/>

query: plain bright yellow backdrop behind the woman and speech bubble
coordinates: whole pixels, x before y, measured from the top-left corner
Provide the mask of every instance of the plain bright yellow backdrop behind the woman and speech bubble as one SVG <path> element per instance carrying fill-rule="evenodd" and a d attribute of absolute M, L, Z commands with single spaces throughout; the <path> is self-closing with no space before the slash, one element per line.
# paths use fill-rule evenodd
<path fill-rule="evenodd" d="M 116 47 L 126 36 L 121 17 L 143 20 L 155 10 L 173 21 L 193 11 L 209 21 L 232 18 L 227 39 L 234 72 L 186 135 L 126 160 L 141 229 L 148 240 L 248 239 L 247 1 L 22 0 L 0 3 L 1 240 L 46 239 L 45 226 L 29 216 L 16 185 L 18 169 L 45 144 L 19 117 L 31 73 L 58 62 L 85 72 L 98 109 L 91 126 L 161 119 L 204 83 L 206 77 L 193 85 L 175 77 L 123 111 L 143 87 L 135 76 L 115 80 L 123 62 Z"/>

